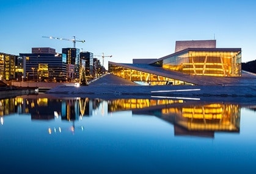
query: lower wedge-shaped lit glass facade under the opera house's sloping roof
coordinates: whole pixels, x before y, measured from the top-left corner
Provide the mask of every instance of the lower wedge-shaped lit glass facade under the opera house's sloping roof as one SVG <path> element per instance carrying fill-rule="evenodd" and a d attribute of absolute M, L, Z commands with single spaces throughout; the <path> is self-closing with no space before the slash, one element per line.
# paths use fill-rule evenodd
<path fill-rule="evenodd" d="M 125 78 L 140 85 L 192 85 L 173 78 L 163 77 L 148 72 L 137 71 L 135 69 L 109 64 L 109 72 L 119 77 Z"/>

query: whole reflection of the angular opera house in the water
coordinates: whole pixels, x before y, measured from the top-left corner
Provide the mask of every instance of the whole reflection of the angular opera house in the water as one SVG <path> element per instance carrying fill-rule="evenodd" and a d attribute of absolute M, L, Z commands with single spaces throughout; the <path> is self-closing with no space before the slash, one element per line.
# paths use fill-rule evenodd
<path fill-rule="evenodd" d="M 214 137 L 216 131 L 240 132 L 241 106 L 233 103 L 184 102 L 183 100 L 117 99 L 109 110 L 133 110 L 174 125 L 175 136 Z"/>

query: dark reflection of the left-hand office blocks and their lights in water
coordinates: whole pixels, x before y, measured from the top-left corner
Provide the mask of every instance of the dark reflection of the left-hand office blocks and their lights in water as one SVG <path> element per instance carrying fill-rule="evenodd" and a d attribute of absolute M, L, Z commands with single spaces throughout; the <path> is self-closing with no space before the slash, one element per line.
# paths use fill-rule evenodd
<path fill-rule="evenodd" d="M 92 116 L 102 101 L 89 98 L 56 99 L 47 95 L 20 96 L 12 99 L 0 100 L 0 123 L 4 125 L 4 116 L 11 114 L 30 114 L 31 120 L 60 119 L 71 122 L 70 131 L 75 131 L 75 121 L 84 116 Z M 79 127 L 81 130 L 84 128 Z M 77 129 L 77 128 L 76 128 Z M 48 128 L 48 133 L 61 133 L 62 128 Z"/>

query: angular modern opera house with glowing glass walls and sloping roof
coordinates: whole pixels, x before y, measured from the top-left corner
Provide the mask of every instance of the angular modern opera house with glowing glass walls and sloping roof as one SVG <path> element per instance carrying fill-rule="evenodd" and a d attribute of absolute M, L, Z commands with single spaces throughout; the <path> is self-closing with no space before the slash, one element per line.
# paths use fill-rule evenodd
<path fill-rule="evenodd" d="M 216 48 L 216 40 L 176 41 L 174 54 L 132 64 L 109 61 L 109 72 L 144 85 L 226 83 L 242 75 L 241 48 Z"/>

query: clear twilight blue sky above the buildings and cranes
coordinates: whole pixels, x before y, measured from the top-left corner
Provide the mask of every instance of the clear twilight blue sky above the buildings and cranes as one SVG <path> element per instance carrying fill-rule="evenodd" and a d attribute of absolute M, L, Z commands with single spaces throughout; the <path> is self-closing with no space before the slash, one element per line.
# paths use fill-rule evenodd
<path fill-rule="evenodd" d="M 76 47 L 108 61 L 172 54 L 177 40 L 217 40 L 241 47 L 242 61 L 255 60 L 256 1 L 229 0 L 0 0 L 0 52 L 30 53 L 31 47 Z M 100 57 L 98 57 L 100 58 Z M 100 58 L 101 60 L 101 58 Z M 101 60 L 102 61 L 102 60 Z"/>

